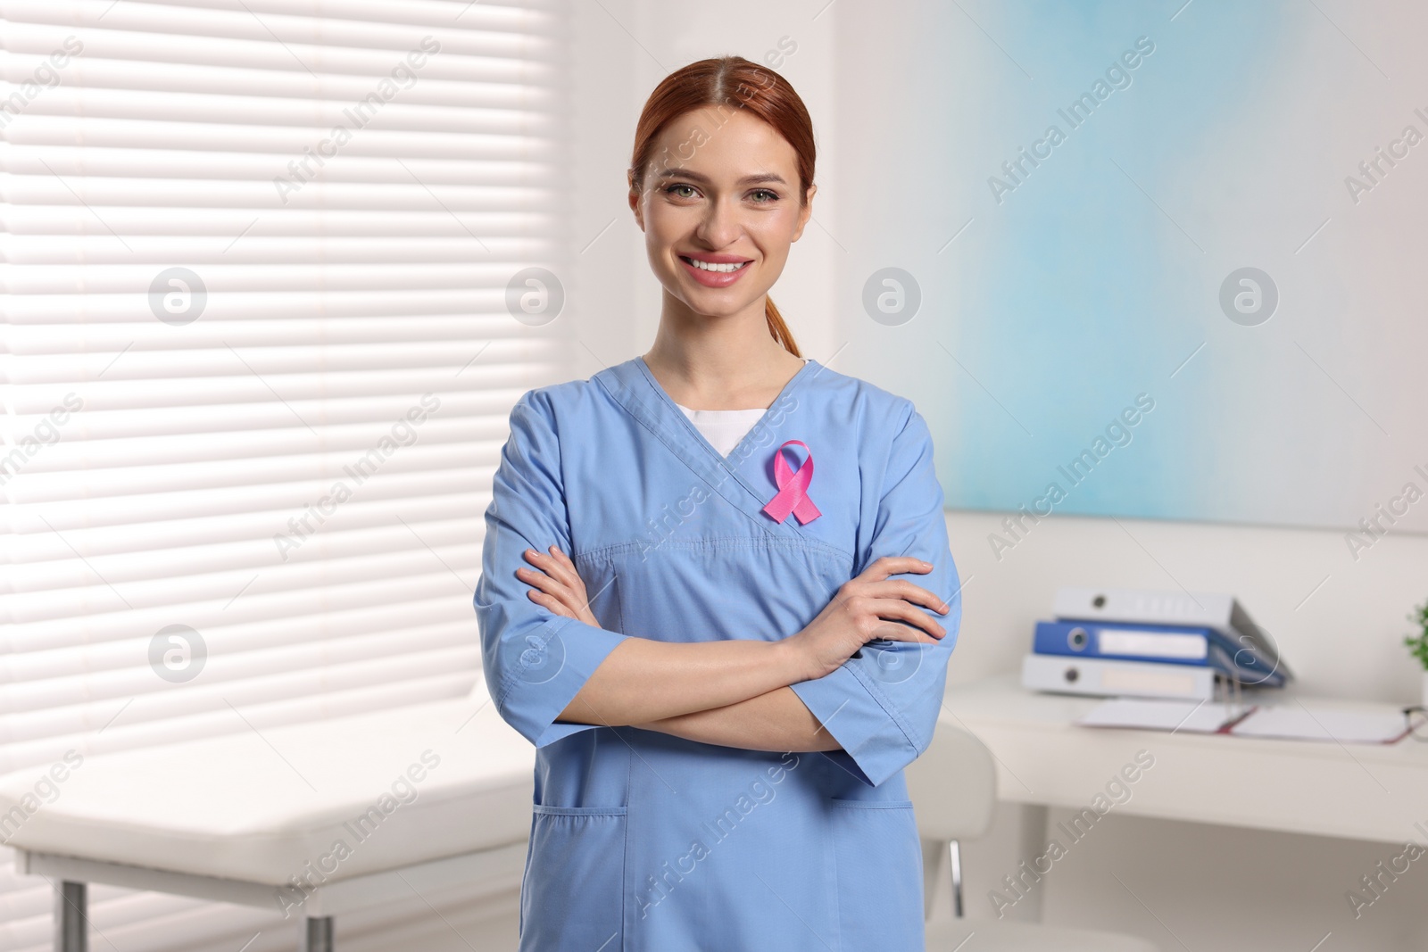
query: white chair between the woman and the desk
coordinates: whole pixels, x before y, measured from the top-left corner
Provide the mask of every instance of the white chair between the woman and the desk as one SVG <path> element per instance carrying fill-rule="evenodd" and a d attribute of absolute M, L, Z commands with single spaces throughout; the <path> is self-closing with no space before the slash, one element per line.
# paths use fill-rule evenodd
<path fill-rule="evenodd" d="M 997 771 L 991 752 L 967 731 L 938 725 L 932 744 L 905 771 L 918 834 L 935 844 L 924 856 L 927 882 L 927 952 L 1158 952 L 1125 935 L 1065 929 L 1011 919 L 962 918 L 960 839 L 975 839 L 991 826 Z M 952 915 L 935 913 L 934 885 L 950 872 Z M 974 941 L 970 941 L 974 939 Z"/>

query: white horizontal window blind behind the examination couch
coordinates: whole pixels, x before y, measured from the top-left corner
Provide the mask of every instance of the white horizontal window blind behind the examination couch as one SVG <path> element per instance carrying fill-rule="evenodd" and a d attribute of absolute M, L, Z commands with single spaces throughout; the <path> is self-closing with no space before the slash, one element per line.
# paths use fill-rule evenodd
<path fill-rule="evenodd" d="M 561 23 L 0 0 L 0 772 L 471 688 L 507 414 L 567 357 L 523 277 L 568 245 Z M 49 948 L 34 882 L 0 949 Z M 93 892 L 126 949 L 243 919 Z"/>

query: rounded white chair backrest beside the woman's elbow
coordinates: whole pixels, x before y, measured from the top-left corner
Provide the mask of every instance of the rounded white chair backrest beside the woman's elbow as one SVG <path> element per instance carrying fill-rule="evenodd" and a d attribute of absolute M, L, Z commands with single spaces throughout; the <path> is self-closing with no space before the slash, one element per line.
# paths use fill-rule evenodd
<path fill-rule="evenodd" d="M 927 839 L 977 839 L 991 826 L 997 805 L 997 765 L 975 736 L 938 722 L 922 756 L 904 771 Z"/>

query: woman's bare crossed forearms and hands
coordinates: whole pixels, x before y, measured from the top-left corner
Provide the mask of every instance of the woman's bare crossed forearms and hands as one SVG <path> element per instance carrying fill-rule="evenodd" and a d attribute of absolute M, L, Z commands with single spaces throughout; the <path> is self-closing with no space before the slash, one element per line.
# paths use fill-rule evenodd
<path fill-rule="evenodd" d="M 526 559 L 536 568 L 521 567 L 516 575 L 531 585 L 531 601 L 600 627 L 570 557 L 551 545 L 550 554 L 527 550 Z M 907 581 L 884 581 L 891 571 L 931 567 L 912 558 L 881 561 L 851 579 L 808 628 L 784 641 L 628 638 L 605 657 L 557 719 L 631 725 L 753 751 L 841 749 L 788 685 L 828 674 L 871 638 L 931 642 L 945 635 L 914 605 L 947 612 L 940 598 Z M 854 582 L 863 588 L 851 588 Z M 894 592 L 895 598 L 887 597 Z"/>

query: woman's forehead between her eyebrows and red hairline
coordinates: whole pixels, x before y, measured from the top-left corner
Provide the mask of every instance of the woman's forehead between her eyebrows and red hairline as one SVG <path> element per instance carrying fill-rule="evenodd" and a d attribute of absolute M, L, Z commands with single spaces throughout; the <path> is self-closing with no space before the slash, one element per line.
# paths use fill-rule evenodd
<path fill-rule="evenodd" d="M 797 184 L 797 156 L 773 126 L 738 106 L 708 106 L 673 118 L 655 141 L 651 171 L 694 171 L 714 181 L 777 173 Z"/>

